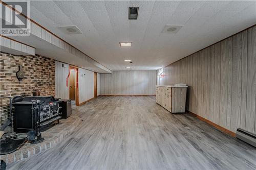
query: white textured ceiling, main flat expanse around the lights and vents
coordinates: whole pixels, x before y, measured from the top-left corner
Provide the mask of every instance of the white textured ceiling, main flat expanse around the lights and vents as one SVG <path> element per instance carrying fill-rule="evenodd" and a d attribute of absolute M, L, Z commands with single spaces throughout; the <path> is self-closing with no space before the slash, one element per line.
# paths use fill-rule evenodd
<path fill-rule="evenodd" d="M 137 20 L 128 19 L 129 7 L 139 7 Z M 111 70 L 156 70 L 254 25 L 256 2 L 32 1 L 30 16 Z M 183 27 L 162 33 L 166 25 Z M 82 34 L 59 26 L 77 26 Z"/>

